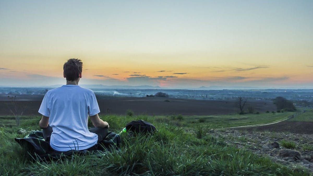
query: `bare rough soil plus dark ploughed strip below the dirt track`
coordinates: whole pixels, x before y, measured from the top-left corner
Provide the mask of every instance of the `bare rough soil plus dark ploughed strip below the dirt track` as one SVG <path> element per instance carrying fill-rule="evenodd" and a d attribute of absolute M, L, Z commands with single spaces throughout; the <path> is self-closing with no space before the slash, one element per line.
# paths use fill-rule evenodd
<path fill-rule="evenodd" d="M 283 121 L 258 127 L 222 129 L 215 133 L 227 138 L 229 144 L 267 155 L 290 167 L 300 165 L 313 173 L 313 122 Z M 283 147 L 283 140 L 295 143 L 296 147 Z"/>

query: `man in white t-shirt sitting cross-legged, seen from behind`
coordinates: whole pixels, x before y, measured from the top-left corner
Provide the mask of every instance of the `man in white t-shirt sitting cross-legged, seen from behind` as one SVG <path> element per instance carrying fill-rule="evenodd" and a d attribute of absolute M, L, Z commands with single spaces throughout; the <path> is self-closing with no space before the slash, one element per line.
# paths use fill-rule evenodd
<path fill-rule="evenodd" d="M 94 92 L 78 85 L 82 66 L 79 59 L 64 63 L 66 85 L 49 90 L 38 111 L 43 137 L 55 151 L 96 150 L 108 133 L 109 124 L 98 116 Z M 88 116 L 95 128 L 88 129 Z"/>

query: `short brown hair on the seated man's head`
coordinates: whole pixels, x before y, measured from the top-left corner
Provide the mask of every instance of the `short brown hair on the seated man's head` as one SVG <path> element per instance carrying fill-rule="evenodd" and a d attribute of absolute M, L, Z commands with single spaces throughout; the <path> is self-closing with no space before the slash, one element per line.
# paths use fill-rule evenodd
<path fill-rule="evenodd" d="M 64 75 L 69 81 L 77 80 L 82 70 L 83 62 L 80 59 L 69 59 L 63 65 Z"/>

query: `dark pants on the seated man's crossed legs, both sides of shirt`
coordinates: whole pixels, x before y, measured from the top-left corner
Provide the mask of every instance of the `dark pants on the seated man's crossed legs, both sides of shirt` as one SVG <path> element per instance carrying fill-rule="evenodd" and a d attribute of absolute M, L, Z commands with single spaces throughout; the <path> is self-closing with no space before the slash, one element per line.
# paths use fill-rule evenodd
<path fill-rule="evenodd" d="M 94 146 L 86 149 L 86 150 L 97 150 L 98 148 L 98 143 L 100 143 L 101 141 L 103 141 L 103 139 L 107 136 L 108 134 L 108 128 L 90 128 L 89 129 L 90 132 L 96 133 L 98 135 L 98 142 L 97 144 L 95 144 Z M 47 128 L 42 129 L 42 133 L 44 136 L 44 140 L 45 141 L 50 141 L 50 136 L 51 133 L 53 132 L 52 127 L 50 127 L 50 125 L 48 125 Z"/>

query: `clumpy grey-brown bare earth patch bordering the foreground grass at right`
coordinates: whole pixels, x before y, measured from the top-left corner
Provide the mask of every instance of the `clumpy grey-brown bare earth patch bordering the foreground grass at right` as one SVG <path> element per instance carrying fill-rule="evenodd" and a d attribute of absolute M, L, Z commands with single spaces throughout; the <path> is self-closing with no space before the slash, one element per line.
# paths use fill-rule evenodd
<path fill-rule="evenodd" d="M 255 154 L 267 155 L 274 162 L 289 167 L 302 166 L 313 172 L 313 151 L 305 145 L 313 145 L 311 134 L 292 132 L 249 131 L 246 129 L 211 130 L 212 135 L 223 138 L 225 142 L 238 148 L 245 148 Z M 281 141 L 294 142 L 295 149 L 281 146 Z"/>

